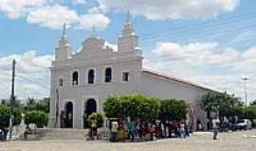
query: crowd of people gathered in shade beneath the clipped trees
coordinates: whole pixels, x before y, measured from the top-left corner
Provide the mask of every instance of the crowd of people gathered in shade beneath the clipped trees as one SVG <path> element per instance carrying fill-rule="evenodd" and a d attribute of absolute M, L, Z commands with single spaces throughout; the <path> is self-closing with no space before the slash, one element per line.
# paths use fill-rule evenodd
<path fill-rule="evenodd" d="M 188 122 L 149 122 L 133 119 L 110 121 L 110 141 L 154 141 L 161 138 L 186 138 L 190 136 Z"/>

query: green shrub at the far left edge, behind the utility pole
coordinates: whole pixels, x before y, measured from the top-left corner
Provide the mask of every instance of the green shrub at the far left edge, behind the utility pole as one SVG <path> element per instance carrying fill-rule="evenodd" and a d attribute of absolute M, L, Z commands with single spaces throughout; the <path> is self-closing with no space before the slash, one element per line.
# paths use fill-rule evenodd
<path fill-rule="evenodd" d="M 0 128 L 6 128 L 9 126 L 10 108 L 0 105 Z M 14 126 L 21 123 L 21 111 L 19 109 L 13 109 Z"/>

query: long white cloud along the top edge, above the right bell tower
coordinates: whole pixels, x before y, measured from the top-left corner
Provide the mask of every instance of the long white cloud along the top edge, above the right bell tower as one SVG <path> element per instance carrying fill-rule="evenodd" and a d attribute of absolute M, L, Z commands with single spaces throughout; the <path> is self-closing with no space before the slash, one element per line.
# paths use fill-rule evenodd
<path fill-rule="evenodd" d="M 148 19 L 211 18 L 232 11 L 240 0 L 98 0 L 104 11 L 126 11 Z"/>

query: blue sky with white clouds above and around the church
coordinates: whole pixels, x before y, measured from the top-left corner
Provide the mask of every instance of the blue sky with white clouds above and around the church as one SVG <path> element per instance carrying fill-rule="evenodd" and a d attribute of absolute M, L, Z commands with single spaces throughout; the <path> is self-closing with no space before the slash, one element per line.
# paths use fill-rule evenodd
<path fill-rule="evenodd" d="M 93 33 L 116 46 L 129 9 L 144 68 L 256 99 L 255 0 L 0 0 L 0 98 L 49 95 L 62 27 L 73 53 Z"/>

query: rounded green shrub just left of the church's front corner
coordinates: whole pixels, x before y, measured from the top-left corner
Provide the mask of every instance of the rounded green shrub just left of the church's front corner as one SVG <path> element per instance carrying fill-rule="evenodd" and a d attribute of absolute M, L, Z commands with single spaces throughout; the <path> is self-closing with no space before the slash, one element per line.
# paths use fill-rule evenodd
<path fill-rule="evenodd" d="M 38 127 L 47 126 L 48 116 L 43 111 L 27 111 L 25 113 L 25 124 L 35 124 Z"/>

